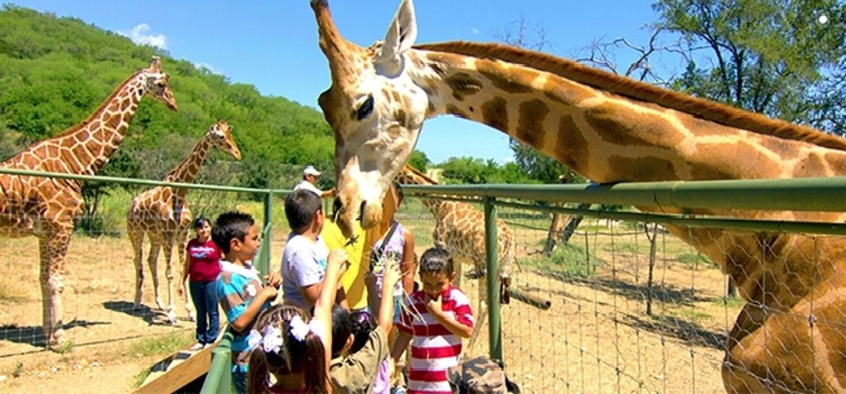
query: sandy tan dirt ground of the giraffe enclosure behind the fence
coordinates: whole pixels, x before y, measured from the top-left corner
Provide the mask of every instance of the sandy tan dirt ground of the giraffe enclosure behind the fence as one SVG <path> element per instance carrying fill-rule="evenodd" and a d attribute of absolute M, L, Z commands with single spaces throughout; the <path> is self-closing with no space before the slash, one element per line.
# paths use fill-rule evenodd
<path fill-rule="evenodd" d="M 428 241 L 422 227 L 418 254 Z M 538 249 L 542 235 L 518 231 L 519 255 Z M 277 232 L 273 268 L 283 249 Z M 71 244 L 64 320 L 72 345 L 43 351 L 41 293 L 35 238 L 0 238 L 0 392 L 127 392 L 135 376 L 163 355 L 140 356 L 142 338 L 189 332 L 184 307 L 165 324 L 151 281 L 145 309 L 131 309 L 135 289 L 125 238 L 75 237 Z M 645 314 L 645 256 L 602 249 L 604 265 L 590 278 L 552 277 L 515 268 L 514 287 L 552 303 L 537 309 L 512 299 L 504 305 L 503 353 L 509 377 L 524 392 L 721 392 L 724 332 L 736 308 L 718 302 L 723 276 L 711 266 L 663 261 L 656 266 L 653 315 Z M 164 267 L 159 268 L 164 282 Z M 177 269 L 178 270 L 178 269 Z M 163 284 L 161 285 L 164 288 Z M 475 281 L 462 287 L 476 298 Z M 162 297 L 166 297 L 163 294 Z M 487 353 L 487 328 L 470 355 Z"/>

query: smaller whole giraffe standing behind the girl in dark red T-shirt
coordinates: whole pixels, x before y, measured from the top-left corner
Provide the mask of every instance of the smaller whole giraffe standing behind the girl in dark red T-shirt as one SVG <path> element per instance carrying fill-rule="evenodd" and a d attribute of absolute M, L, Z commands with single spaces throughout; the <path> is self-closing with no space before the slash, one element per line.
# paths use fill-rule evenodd
<path fill-rule="evenodd" d="M 195 145 L 191 153 L 168 175 L 165 182 L 191 183 L 200 172 L 203 162 L 212 147 L 229 153 L 235 160 L 241 160 L 241 151 L 232 137 L 232 129 L 226 121 L 211 125 L 206 135 Z M 191 210 L 188 206 L 187 189 L 157 186 L 148 189 L 132 199 L 132 206 L 126 216 L 126 228 L 132 243 L 135 262 L 135 308 L 140 308 L 141 290 L 144 287 L 143 246 L 144 237 L 150 239 L 150 253 L 147 262 L 153 279 L 153 292 L 159 309 L 167 311 L 168 321 L 176 323 L 173 310 L 173 244 L 177 244 L 179 261 L 184 261 L 185 247 L 191 227 Z M 165 276 L 168 279 L 168 307 L 165 308 L 158 291 L 158 254 L 164 249 Z M 185 297 L 185 309 L 191 320 L 194 310 Z"/>

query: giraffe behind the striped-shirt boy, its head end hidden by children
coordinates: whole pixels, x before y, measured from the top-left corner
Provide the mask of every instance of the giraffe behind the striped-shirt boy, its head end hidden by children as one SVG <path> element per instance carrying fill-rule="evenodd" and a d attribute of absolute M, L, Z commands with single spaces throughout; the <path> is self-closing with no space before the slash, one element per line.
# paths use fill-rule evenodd
<path fill-rule="evenodd" d="M 406 184 L 438 184 L 426 174 L 405 165 L 403 171 L 397 175 L 398 183 Z M 460 286 L 461 264 L 468 262 L 473 265 L 475 272 L 485 272 L 485 214 L 475 209 L 473 205 L 460 201 L 437 199 L 422 199 L 423 205 L 435 216 L 435 229 L 431 233 L 436 246 L 447 249 L 453 255 L 458 265 L 456 271 L 456 286 Z M 497 249 L 500 279 L 507 278 L 514 261 L 514 233 L 502 219 L 497 221 Z M 470 337 L 468 348 L 473 348 L 479 333 L 485 330 L 487 322 L 487 280 L 484 277 L 478 281 L 479 298 L 476 304 L 476 326 Z"/>

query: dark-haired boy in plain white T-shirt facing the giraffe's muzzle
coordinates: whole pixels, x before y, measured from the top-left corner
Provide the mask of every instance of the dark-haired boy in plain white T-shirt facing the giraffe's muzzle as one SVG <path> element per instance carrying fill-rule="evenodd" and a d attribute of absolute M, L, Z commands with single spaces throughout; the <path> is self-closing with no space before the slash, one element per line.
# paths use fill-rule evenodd
<path fill-rule="evenodd" d="M 285 197 L 285 217 L 291 233 L 282 256 L 283 300 L 309 310 L 320 294 L 329 255 L 320 238 L 326 221 L 320 197 L 306 189 L 294 190 Z M 343 288 L 338 289 L 336 302 L 347 308 Z"/>

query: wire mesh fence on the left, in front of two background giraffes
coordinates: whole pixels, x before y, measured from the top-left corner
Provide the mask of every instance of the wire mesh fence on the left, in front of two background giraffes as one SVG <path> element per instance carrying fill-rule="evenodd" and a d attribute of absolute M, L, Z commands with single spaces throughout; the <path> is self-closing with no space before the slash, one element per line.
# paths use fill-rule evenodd
<path fill-rule="evenodd" d="M 160 308 L 155 296 L 151 272 L 150 237 L 179 238 L 173 230 L 157 233 L 146 232 L 141 250 L 135 250 L 128 238 L 128 211 L 133 198 L 146 186 L 115 187 L 108 189 L 98 201 L 95 216 L 81 215 L 74 219 L 75 230 L 69 241 L 69 251 L 62 269 L 58 271 L 63 283 L 60 298 L 63 313 L 59 316 L 64 330 L 62 345 L 54 350 L 64 352 L 72 347 L 105 344 L 140 337 L 162 336 L 174 331 L 194 331 L 195 323 L 189 310 L 194 307 L 188 295 L 177 293 L 177 284 L 183 271 L 184 260 L 179 249 L 184 244 L 173 242 L 173 254 L 168 268 L 164 247 L 157 254 L 158 295 L 164 306 Z M 213 221 L 224 211 L 250 213 L 256 225 L 265 221 L 262 200 L 251 193 L 222 190 L 191 190 L 188 194 L 191 216 L 206 216 Z M 277 228 L 284 225 L 283 206 L 278 200 L 274 206 Z M 140 222 L 161 220 L 159 211 L 141 212 Z M 12 216 L 12 214 L 7 214 Z M 14 219 L 14 218 L 11 218 Z M 8 233 L 0 237 L 0 358 L 11 358 L 47 349 L 47 337 L 42 332 L 42 294 L 40 286 L 40 256 L 38 226 L 30 236 L 15 237 Z M 8 237 L 13 235 L 13 237 Z M 33 236 L 34 235 L 34 236 Z M 195 237 L 193 228 L 188 238 Z M 272 253 L 281 254 L 283 232 L 270 239 Z M 267 240 L 264 240 L 267 242 Z M 135 259 L 140 252 L 143 274 L 140 303 L 135 304 L 137 273 Z M 274 259 L 271 259 L 274 260 Z M 168 277 L 170 299 L 168 301 Z M 168 307 L 173 305 L 175 320 L 168 318 Z M 225 323 L 225 319 L 222 319 Z"/>

